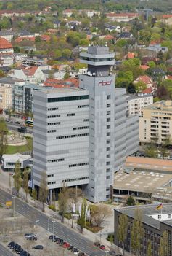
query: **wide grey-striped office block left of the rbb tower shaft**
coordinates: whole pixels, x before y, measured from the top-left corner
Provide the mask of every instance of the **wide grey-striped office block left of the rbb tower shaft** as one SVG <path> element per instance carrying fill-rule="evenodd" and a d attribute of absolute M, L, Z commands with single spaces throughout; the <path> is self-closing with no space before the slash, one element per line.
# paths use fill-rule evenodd
<path fill-rule="evenodd" d="M 89 94 L 76 88 L 34 93 L 33 184 L 47 175 L 54 188 L 89 183 Z"/>

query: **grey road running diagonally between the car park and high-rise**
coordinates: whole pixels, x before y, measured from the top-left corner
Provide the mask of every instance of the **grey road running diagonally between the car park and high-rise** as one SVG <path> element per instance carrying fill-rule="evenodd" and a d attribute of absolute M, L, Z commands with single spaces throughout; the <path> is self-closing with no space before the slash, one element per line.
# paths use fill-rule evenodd
<path fill-rule="evenodd" d="M 0 189 L 0 202 L 5 203 L 6 201 L 12 201 L 12 195 Z M 18 198 L 15 198 L 15 212 L 22 214 L 34 223 L 36 223 L 36 220 L 39 220 L 38 225 L 46 230 L 48 230 L 49 222 L 49 231 L 52 232 L 53 223 L 49 221 L 49 217 Z M 81 236 L 74 230 L 67 228 L 65 225 L 57 221 L 54 222 L 54 235 L 64 239 L 69 244 L 72 244 L 82 252 L 85 252 L 87 255 L 105 256 L 105 252 L 94 247 L 94 241 L 89 241 L 89 239 Z"/>

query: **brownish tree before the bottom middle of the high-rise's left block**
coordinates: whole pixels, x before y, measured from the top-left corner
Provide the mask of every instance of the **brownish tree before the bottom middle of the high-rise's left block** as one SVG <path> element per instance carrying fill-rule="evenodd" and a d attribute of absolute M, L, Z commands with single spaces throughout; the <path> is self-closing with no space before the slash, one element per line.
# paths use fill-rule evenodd
<path fill-rule="evenodd" d="M 64 222 L 65 212 L 67 211 L 67 202 L 68 202 L 68 190 L 65 186 L 65 182 L 62 183 L 62 187 L 60 188 L 60 193 L 58 195 L 58 206 L 59 212 L 62 214 L 61 222 Z"/>

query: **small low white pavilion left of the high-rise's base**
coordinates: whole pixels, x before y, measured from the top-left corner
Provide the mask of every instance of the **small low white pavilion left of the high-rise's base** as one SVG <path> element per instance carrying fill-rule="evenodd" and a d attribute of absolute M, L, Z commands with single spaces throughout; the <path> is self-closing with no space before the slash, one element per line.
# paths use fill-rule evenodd
<path fill-rule="evenodd" d="M 14 171 L 15 164 L 17 161 L 20 163 L 20 168 L 23 170 L 25 167 L 30 165 L 30 155 L 22 155 L 20 153 L 16 153 L 13 155 L 2 155 L 2 167 L 4 171 Z"/>

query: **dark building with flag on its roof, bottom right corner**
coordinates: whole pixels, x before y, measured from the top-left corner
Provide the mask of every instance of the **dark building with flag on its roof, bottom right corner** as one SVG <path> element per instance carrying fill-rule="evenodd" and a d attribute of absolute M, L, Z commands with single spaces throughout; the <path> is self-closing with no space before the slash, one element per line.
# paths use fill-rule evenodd
<path fill-rule="evenodd" d="M 159 206 L 159 209 L 157 208 Z M 121 214 L 125 214 L 128 217 L 128 228 L 127 237 L 124 242 L 124 249 L 131 252 L 131 228 L 134 222 L 134 216 L 136 209 L 142 212 L 142 225 L 143 225 L 143 239 L 141 244 L 142 256 L 148 255 L 149 243 L 151 244 L 151 256 L 161 256 L 160 254 L 160 244 L 163 233 L 166 232 L 168 235 L 167 246 L 168 246 L 168 256 L 172 255 L 172 244 L 171 244 L 171 234 L 172 234 L 172 203 L 160 203 L 148 204 L 142 206 L 129 206 L 120 209 L 114 209 L 114 236 L 115 244 L 121 247 L 121 252 L 123 244 L 118 241 L 118 228 L 119 228 L 119 217 Z M 162 210 L 161 210 L 162 209 Z M 166 243 L 166 241 L 165 241 Z"/>

